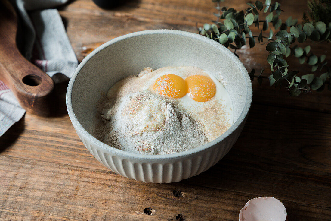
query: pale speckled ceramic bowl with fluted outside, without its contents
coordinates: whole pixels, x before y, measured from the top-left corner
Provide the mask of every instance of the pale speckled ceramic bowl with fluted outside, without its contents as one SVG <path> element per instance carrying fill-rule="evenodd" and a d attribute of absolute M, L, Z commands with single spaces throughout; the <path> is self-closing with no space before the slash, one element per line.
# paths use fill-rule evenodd
<path fill-rule="evenodd" d="M 168 155 L 139 155 L 111 147 L 91 135 L 101 92 L 144 67 L 197 66 L 224 73 L 234 107 L 234 124 L 195 149 Z M 150 30 L 117 37 L 91 52 L 77 67 L 67 90 L 67 109 L 78 136 L 98 161 L 115 173 L 146 183 L 188 179 L 216 164 L 236 142 L 252 101 L 244 65 L 223 45 L 198 34 Z"/>

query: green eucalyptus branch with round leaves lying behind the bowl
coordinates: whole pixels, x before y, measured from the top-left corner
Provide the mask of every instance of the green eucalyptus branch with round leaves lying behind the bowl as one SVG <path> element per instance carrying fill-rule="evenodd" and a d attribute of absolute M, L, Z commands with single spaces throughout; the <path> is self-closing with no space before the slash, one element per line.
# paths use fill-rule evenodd
<path fill-rule="evenodd" d="M 322 91 L 325 85 L 328 85 L 327 88 L 331 91 L 331 84 L 329 83 L 331 67 L 326 66 L 326 55 L 316 56 L 310 52 L 310 45 L 305 48 L 292 45 L 295 41 L 303 43 L 308 39 L 311 42 L 331 41 L 331 0 L 313 0 L 309 2 L 311 10 L 309 15 L 312 22 L 304 13 L 303 24 L 298 24 L 298 19 L 293 19 L 292 16 L 282 22 L 279 18 L 283 11 L 280 8 L 281 5 L 278 2 L 271 3 L 271 0 L 266 0 L 264 4 L 259 0 L 255 2 L 255 5 L 247 3 L 250 7 L 239 12 L 234 8 L 221 8 L 220 2 L 223 2 L 223 0 L 213 1 L 216 2 L 216 8 L 219 10 L 218 14 L 215 14 L 217 16 L 216 22 L 205 24 L 203 28 L 199 28 L 199 34 L 218 41 L 225 47 L 234 49 L 234 54 L 237 57 L 239 57 L 237 50 L 241 49 L 242 46 L 249 43 L 252 48 L 256 45 L 256 38 L 260 44 L 262 44 L 263 39 L 266 40 L 266 51 L 269 52 L 267 61 L 270 64 L 271 73 L 269 76 L 262 76 L 263 69 L 260 75 L 255 75 L 255 69 L 253 69 L 250 73 L 252 81 L 257 78 L 259 84 L 261 84 L 263 79 L 268 79 L 270 86 L 282 86 L 285 82 L 288 85 L 290 96 L 298 96 L 302 92 L 308 93 L 311 90 Z M 327 4 L 327 7 L 319 7 L 321 4 Z M 264 20 L 260 20 L 260 13 L 266 14 Z M 318 13 L 323 16 L 318 16 Z M 263 24 L 261 28 L 260 23 Z M 253 36 L 250 29 L 253 24 L 259 28 L 259 36 Z M 279 30 L 275 35 L 272 29 L 269 29 L 270 25 L 273 25 L 275 30 Z M 262 31 L 268 29 L 269 37 L 263 36 Z M 298 71 L 289 72 L 290 65 L 283 58 L 284 56 L 297 57 L 300 64 L 307 63 L 311 66 L 311 72 L 317 69 L 321 71 L 323 68 L 326 68 L 327 72 L 319 76 L 306 74 L 299 77 L 297 76 Z"/>

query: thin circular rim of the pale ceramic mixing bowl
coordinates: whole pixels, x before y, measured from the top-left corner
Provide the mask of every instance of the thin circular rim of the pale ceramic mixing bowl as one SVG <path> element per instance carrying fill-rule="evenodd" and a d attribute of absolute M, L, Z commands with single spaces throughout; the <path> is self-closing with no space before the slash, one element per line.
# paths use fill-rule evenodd
<path fill-rule="evenodd" d="M 80 70 L 83 68 L 83 66 L 87 63 L 87 61 L 92 58 L 94 55 L 96 55 L 98 52 L 103 50 L 104 48 L 108 47 L 111 44 L 117 43 L 121 40 L 127 39 L 127 38 L 132 38 L 132 37 L 138 37 L 138 36 L 144 36 L 144 35 L 155 35 L 155 34 L 160 34 L 160 35 L 180 35 L 180 36 L 185 36 L 185 37 L 190 37 L 194 38 L 203 42 L 206 42 L 208 44 L 211 44 L 212 46 L 220 49 L 223 53 L 225 53 L 227 56 L 230 56 L 232 60 L 238 65 L 240 72 L 243 74 L 244 81 L 245 81 L 245 87 L 246 87 L 246 102 L 245 106 L 240 113 L 238 119 L 233 123 L 233 125 L 225 131 L 221 136 L 216 138 L 215 140 L 206 143 L 202 146 L 196 147 L 191 150 L 186 150 L 178 153 L 172 153 L 172 154 L 165 154 L 165 155 L 143 155 L 143 154 L 137 154 L 137 153 L 131 153 L 127 151 L 123 151 L 120 149 L 117 149 L 115 147 L 109 146 L 108 144 L 105 144 L 92 136 L 85 128 L 79 123 L 78 119 L 75 116 L 75 113 L 73 112 L 72 108 L 72 102 L 71 102 L 71 93 L 72 93 L 72 88 L 74 81 L 79 74 Z M 243 63 L 232 53 L 229 49 L 224 47 L 222 44 L 199 34 L 191 33 L 191 32 L 185 32 L 185 31 L 179 31 L 179 30 L 168 30 L 168 29 L 156 29 L 156 30 L 146 30 L 146 31 L 139 31 L 139 32 L 133 32 L 130 34 L 126 34 L 120 37 L 116 37 L 110 41 L 107 41 L 106 43 L 100 45 L 97 47 L 95 50 L 93 50 L 90 54 L 88 54 L 82 62 L 78 65 L 76 70 L 74 71 L 69 84 L 67 88 L 67 94 L 66 94 L 66 104 L 67 104 L 67 110 L 68 114 L 70 117 L 70 120 L 75 128 L 75 130 L 79 130 L 79 133 L 83 134 L 86 136 L 86 138 L 91 141 L 93 144 L 99 146 L 100 148 L 110 151 L 113 154 L 116 154 L 118 156 L 122 156 L 125 158 L 130 158 L 130 159 L 137 159 L 137 160 L 166 160 L 166 159 L 176 159 L 176 158 L 181 158 L 181 157 L 186 157 L 188 155 L 193 155 L 198 152 L 204 151 L 210 147 L 213 147 L 215 144 L 223 141 L 226 137 L 228 137 L 233 131 L 235 131 L 238 126 L 242 123 L 242 121 L 245 119 L 246 115 L 248 114 L 248 111 L 250 109 L 251 103 L 252 103 L 252 95 L 253 95 L 253 88 L 252 88 L 252 82 L 249 78 L 248 72 L 243 65 Z"/>

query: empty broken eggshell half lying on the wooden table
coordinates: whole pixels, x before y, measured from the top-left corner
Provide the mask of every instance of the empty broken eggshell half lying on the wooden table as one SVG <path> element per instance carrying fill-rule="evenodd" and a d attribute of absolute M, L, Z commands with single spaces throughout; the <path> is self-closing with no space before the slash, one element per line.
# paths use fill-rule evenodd
<path fill-rule="evenodd" d="M 258 197 L 249 200 L 240 210 L 239 221 L 287 221 L 286 208 L 273 197 Z"/>

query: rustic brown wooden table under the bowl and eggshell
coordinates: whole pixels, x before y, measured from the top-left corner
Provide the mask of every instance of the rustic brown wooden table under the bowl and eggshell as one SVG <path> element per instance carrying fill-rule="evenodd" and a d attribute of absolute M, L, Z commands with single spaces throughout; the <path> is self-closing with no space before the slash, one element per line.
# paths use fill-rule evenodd
<path fill-rule="evenodd" d="M 284 19 L 300 19 L 307 9 L 305 1 L 279 2 Z M 245 3 L 222 4 L 244 9 Z M 79 0 L 59 10 L 81 61 L 123 34 L 196 32 L 196 22 L 200 26 L 213 19 L 213 6 L 210 0 L 132 0 L 107 11 Z M 239 53 L 249 71 L 268 67 L 264 47 L 244 47 Z M 312 49 L 330 60 L 330 44 Z M 293 67 L 309 73 L 305 66 Z M 237 220 L 245 203 L 259 196 L 281 200 L 289 220 L 330 220 L 329 91 L 288 97 L 286 89 L 254 81 L 246 126 L 221 161 L 179 183 L 145 184 L 113 173 L 88 152 L 66 112 L 66 86 L 57 85 L 57 115 L 27 113 L 0 137 L 0 220 Z M 147 215 L 145 208 L 156 211 Z"/>

